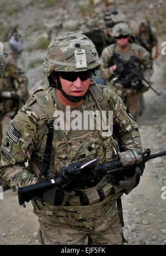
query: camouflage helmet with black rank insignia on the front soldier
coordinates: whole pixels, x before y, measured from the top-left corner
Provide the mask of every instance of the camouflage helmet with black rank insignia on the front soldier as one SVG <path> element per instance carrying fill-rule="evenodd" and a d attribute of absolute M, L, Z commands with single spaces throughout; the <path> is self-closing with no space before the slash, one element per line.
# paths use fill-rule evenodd
<path fill-rule="evenodd" d="M 84 34 L 61 34 L 51 40 L 43 63 L 44 74 L 98 68 L 101 61 L 94 43 Z"/>

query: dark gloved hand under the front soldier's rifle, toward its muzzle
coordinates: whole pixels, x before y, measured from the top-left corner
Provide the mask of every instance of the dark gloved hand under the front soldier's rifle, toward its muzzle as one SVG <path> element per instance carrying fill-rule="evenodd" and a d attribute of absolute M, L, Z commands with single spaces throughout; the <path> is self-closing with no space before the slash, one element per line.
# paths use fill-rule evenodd
<path fill-rule="evenodd" d="M 133 170 L 131 175 L 124 177 L 113 178 L 112 185 L 118 188 L 122 188 L 125 194 L 131 192 L 131 190 L 139 184 L 140 176 L 143 174 L 144 164 L 139 164 L 136 169 Z"/>

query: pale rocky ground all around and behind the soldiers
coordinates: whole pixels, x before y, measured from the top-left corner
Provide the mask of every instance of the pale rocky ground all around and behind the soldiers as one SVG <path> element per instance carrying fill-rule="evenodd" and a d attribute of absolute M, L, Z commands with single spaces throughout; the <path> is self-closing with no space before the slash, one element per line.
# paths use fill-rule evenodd
<path fill-rule="evenodd" d="M 7 8 L 10 1 L 4 2 L 3 7 Z M 19 1 L 15 1 L 18 3 Z M 30 4 L 30 2 L 32 2 Z M 53 1 L 24 1 L 25 6 L 20 7 L 20 12 L 14 14 L 8 14 L 2 12 L 0 7 L 1 17 L 0 20 L 3 23 L 12 24 L 17 20 L 20 24 L 20 30 L 23 32 L 23 38 L 25 43 L 25 51 L 23 52 L 23 65 L 24 70 L 27 73 L 29 79 L 29 91 L 30 94 L 34 89 L 43 86 L 45 79 L 43 77 L 42 66 L 37 65 L 35 68 L 30 68 L 29 63 L 38 59 L 44 59 L 45 51 L 43 49 L 33 49 L 28 51 L 28 46 L 32 46 L 34 42 L 40 37 L 46 37 L 45 29 L 35 30 L 32 26 L 36 23 L 46 24 L 50 26 L 54 24 L 53 21 L 57 20 L 61 15 L 66 19 L 73 14 L 73 10 L 76 10 L 75 18 L 79 18 L 83 15 L 79 12 L 79 9 L 75 8 L 77 1 L 70 1 L 71 6 L 68 8 L 68 12 L 64 10 L 65 1 L 57 2 L 58 8 L 45 7 L 46 2 Z M 81 2 L 81 1 L 79 1 Z M 87 1 L 86 1 L 87 2 Z M 97 3 L 97 1 L 94 1 Z M 98 1 L 100 2 L 100 1 Z M 104 1 L 102 1 L 104 2 Z M 113 1 L 112 1 L 113 2 Z M 7 5 L 8 3 L 8 5 Z M 41 4 L 40 4 L 41 3 Z M 136 4 L 137 3 L 137 4 Z M 116 1 L 117 6 L 121 7 L 122 11 L 132 19 L 143 18 L 143 9 L 146 9 L 146 16 L 153 17 L 153 21 L 158 28 L 160 43 L 166 41 L 164 38 L 165 24 L 162 21 L 164 15 L 163 4 L 164 1 L 147 0 L 147 1 Z M 16 8 L 16 6 L 13 6 Z M 103 7 L 103 4 L 95 6 L 97 8 Z M 18 6 L 17 6 L 18 8 Z M 59 10 L 59 12 L 57 11 Z M 81 14 L 80 14 L 81 13 Z M 56 15 L 55 15 L 56 14 Z M 74 17 L 72 15 L 72 17 Z M 32 25 L 32 26 L 30 26 Z M 31 29 L 31 30 L 30 30 Z M 7 48 L 7 42 L 5 43 Z M 138 119 L 139 130 L 141 132 L 143 150 L 151 148 L 152 153 L 158 153 L 166 150 L 166 72 L 165 72 L 165 58 L 166 56 L 159 57 L 158 67 L 154 64 L 154 74 L 152 81 L 153 87 L 160 92 L 158 97 L 153 91 L 149 90 L 144 94 L 146 101 L 146 109 L 143 115 Z M 141 178 L 141 183 L 135 188 L 129 195 L 123 195 L 123 213 L 125 228 L 124 234 L 128 240 L 128 244 L 166 244 L 166 223 L 165 223 L 165 210 L 166 210 L 166 198 L 162 199 L 162 188 L 166 186 L 166 157 L 156 158 L 149 161 L 146 164 L 146 170 Z M 165 198 L 165 200 L 164 200 Z M 7 190 L 3 194 L 3 200 L 0 199 L 0 244 L 36 244 L 38 245 L 37 232 L 38 221 L 37 217 L 33 214 L 32 205 L 26 204 L 24 209 L 18 205 L 17 193 L 12 190 Z"/>

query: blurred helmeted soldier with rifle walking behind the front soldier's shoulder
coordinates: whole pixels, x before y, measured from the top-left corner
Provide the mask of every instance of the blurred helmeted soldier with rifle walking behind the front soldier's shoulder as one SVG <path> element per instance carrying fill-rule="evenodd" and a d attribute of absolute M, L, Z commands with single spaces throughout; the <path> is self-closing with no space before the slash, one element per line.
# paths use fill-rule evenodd
<path fill-rule="evenodd" d="M 148 90 L 148 83 L 128 72 L 128 67 L 131 71 L 133 68 L 134 73 L 149 82 L 153 73 L 153 63 L 146 49 L 129 43 L 130 35 L 131 30 L 126 23 L 118 23 L 113 27 L 112 36 L 116 38 L 116 43 L 103 49 L 103 62 L 98 73 L 101 78 L 107 79 L 107 86 L 123 99 L 134 118 L 138 118 L 140 93 Z M 130 61 L 127 68 L 123 64 L 124 61 Z"/>

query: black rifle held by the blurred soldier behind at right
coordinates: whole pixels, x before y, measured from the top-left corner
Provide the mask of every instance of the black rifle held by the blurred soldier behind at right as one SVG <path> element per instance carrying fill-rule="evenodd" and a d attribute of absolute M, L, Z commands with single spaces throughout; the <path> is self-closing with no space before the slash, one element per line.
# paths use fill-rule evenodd
<path fill-rule="evenodd" d="M 111 63 L 113 63 L 113 61 L 115 60 L 116 62 L 120 62 L 123 64 L 123 69 L 124 71 L 122 72 L 122 74 L 117 75 L 116 78 L 113 79 L 113 81 L 115 82 L 117 79 L 120 79 L 123 74 L 127 75 L 128 77 L 126 79 L 123 79 L 123 86 L 124 87 L 129 87 L 130 81 L 133 77 L 137 78 L 137 82 L 138 82 L 138 87 L 136 85 L 135 89 L 139 89 L 139 84 L 144 81 L 148 84 L 148 87 L 151 88 L 153 90 L 153 92 L 155 92 L 158 96 L 160 95 L 157 91 L 155 91 L 154 88 L 152 88 L 151 84 L 153 84 L 152 82 L 147 81 L 146 78 L 144 78 L 142 76 L 142 74 L 138 73 L 136 71 L 138 64 L 136 63 L 137 60 L 135 60 L 136 57 L 132 56 L 129 61 L 125 61 L 125 59 L 122 58 L 122 56 L 118 53 L 114 53 L 111 61 L 110 61 L 110 66 Z M 133 87 L 134 89 L 134 87 Z"/>

